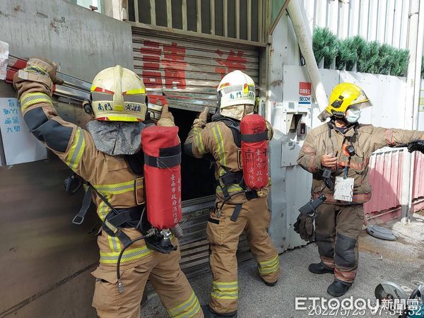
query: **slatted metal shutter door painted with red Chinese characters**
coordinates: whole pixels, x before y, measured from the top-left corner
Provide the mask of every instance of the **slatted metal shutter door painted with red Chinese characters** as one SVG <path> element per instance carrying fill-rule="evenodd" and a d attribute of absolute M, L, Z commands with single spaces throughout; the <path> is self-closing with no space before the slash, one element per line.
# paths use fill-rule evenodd
<path fill-rule="evenodd" d="M 133 28 L 134 70 L 149 90 L 149 103 L 199 112 L 216 107 L 216 87 L 226 73 L 240 69 L 259 82 L 259 52 L 236 45 L 211 45 L 166 35 L 146 35 Z M 159 93 L 160 92 L 160 93 Z M 163 94 L 162 94 L 163 93 Z M 187 276 L 209 271 L 206 223 L 215 196 L 183 201 L 179 240 L 181 268 Z M 245 235 L 240 237 L 237 259 L 252 258 Z"/>

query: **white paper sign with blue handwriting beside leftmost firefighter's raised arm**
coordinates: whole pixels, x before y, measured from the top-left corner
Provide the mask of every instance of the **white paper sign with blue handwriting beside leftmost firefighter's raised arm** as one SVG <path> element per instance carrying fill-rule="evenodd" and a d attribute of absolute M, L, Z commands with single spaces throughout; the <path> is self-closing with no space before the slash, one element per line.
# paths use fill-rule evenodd
<path fill-rule="evenodd" d="M 17 98 L 0 98 L 0 131 L 6 165 L 47 158 L 46 147 L 30 133 Z"/>

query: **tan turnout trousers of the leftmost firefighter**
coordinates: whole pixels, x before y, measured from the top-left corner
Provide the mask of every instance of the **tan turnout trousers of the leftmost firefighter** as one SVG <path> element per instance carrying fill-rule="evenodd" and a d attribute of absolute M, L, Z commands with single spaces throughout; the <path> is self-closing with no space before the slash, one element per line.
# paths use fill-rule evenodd
<path fill-rule="evenodd" d="M 104 240 L 107 240 L 105 232 L 99 237 L 100 252 L 102 245 L 107 244 Z M 148 279 L 170 317 L 204 317 L 199 300 L 179 267 L 179 248 L 170 254 L 155 252 L 146 245 L 139 249 L 144 251 L 143 257 L 121 266 L 122 293 L 118 292 L 114 262 L 100 262 L 98 269 L 93 271 L 92 275 L 96 278 L 93 307 L 99 317 L 139 318 L 141 298 Z M 131 258 L 131 255 L 126 257 Z"/>

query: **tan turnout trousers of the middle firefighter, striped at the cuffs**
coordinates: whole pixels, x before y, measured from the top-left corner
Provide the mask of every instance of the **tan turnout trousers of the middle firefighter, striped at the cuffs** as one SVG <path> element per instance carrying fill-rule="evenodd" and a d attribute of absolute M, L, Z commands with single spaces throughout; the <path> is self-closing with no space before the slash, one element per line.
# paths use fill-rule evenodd
<path fill-rule="evenodd" d="M 218 199 L 217 206 L 222 201 Z M 271 220 L 266 196 L 242 204 L 242 210 L 234 222 L 230 220 L 235 204 L 226 203 L 220 216 L 213 211 L 208 220 L 206 233 L 210 243 L 210 264 L 213 275 L 211 302 L 209 306 L 220 314 L 237 310 L 237 245 L 243 230 L 249 247 L 258 263 L 261 278 L 267 283 L 278 280 L 280 264 L 267 228 Z"/>

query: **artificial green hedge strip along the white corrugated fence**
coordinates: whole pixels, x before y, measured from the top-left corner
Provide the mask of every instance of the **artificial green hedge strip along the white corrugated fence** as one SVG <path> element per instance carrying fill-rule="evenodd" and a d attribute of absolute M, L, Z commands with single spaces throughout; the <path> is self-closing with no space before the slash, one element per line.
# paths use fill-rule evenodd
<path fill-rule="evenodd" d="M 352 71 L 356 64 L 358 72 L 406 76 L 408 69 L 408 49 L 367 42 L 359 35 L 338 40 L 328 28 L 315 28 L 312 47 L 317 64 L 324 59 L 325 69 L 330 68 L 334 59 L 338 70 Z M 423 76 L 424 67 L 421 70 Z"/>

